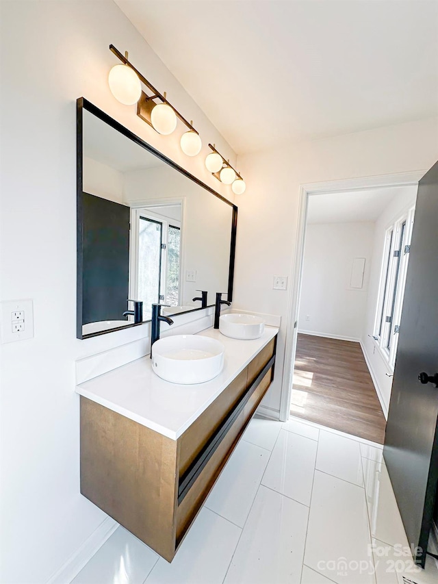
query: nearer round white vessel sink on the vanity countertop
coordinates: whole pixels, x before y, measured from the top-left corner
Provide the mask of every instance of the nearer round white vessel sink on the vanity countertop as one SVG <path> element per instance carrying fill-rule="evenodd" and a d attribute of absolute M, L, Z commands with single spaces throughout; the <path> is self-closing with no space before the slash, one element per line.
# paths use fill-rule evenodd
<path fill-rule="evenodd" d="M 172 383 L 204 383 L 224 366 L 225 347 L 202 335 L 174 335 L 152 346 L 153 371 Z"/>

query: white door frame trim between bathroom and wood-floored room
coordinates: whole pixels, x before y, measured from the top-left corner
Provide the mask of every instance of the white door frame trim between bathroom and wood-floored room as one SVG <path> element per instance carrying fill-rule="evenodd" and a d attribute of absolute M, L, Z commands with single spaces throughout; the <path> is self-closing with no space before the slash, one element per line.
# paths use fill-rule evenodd
<path fill-rule="evenodd" d="M 409 173 L 396 173 L 391 175 L 376 175 L 360 177 L 356 179 L 343 179 L 337 181 L 324 181 L 319 183 L 306 183 L 300 185 L 298 197 L 298 217 L 296 220 L 295 255 L 292 265 L 292 285 L 289 291 L 285 360 L 283 365 L 283 385 L 280 401 L 280 420 L 286 422 L 289 419 L 290 400 L 294 377 L 294 363 L 296 355 L 296 342 L 298 325 L 295 330 L 294 323 L 298 323 L 300 308 L 300 295 L 302 284 L 302 268 L 304 264 L 304 250 L 307 226 L 307 207 L 310 195 L 324 195 L 333 192 L 360 192 L 370 188 L 388 188 L 398 186 L 418 186 L 420 179 L 427 170 L 414 170 Z"/>

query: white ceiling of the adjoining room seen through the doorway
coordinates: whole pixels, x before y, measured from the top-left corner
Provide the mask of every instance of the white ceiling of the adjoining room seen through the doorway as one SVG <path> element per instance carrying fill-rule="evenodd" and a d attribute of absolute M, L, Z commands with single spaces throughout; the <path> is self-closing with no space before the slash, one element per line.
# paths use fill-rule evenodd
<path fill-rule="evenodd" d="M 307 223 L 374 223 L 395 197 L 416 192 L 407 186 L 311 195 Z"/>

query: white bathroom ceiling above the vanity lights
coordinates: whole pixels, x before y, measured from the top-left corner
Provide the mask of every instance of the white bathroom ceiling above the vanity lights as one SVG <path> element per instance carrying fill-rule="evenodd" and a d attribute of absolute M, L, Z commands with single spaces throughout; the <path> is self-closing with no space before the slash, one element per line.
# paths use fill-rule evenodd
<path fill-rule="evenodd" d="M 438 114 L 435 0 L 115 1 L 237 153 Z"/>

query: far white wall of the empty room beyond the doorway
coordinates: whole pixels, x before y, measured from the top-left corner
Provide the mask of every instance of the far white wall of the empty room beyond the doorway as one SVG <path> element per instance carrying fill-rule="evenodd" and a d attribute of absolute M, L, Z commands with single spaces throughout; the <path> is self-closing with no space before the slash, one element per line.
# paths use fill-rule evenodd
<path fill-rule="evenodd" d="M 361 340 L 373 236 L 374 223 L 307 225 L 298 331 Z M 355 257 L 365 258 L 362 288 L 350 285 Z"/>

